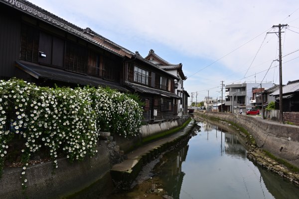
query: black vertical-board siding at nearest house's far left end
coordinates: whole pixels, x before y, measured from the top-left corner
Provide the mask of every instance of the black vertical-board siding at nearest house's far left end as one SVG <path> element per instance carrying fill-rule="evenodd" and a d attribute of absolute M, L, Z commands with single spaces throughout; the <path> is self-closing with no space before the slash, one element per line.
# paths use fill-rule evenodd
<path fill-rule="evenodd" d="M 10 7 L 0 6 L 0 79 L 14 76 L 15 60 L 19 59 L 20 22 Z"/>

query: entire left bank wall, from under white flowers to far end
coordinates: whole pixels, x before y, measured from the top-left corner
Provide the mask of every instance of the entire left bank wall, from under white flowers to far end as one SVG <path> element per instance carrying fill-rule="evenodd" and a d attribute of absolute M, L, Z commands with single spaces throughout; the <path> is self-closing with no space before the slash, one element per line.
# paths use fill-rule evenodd
<path fill-rule="evenodd" d="M 0 178 L 0 199 L 54 199 L 63 198 L 89 187 L 101 180 L 110 172 L 115 155 L 119 149 L 129 149 L 134 144 L 142 145 L 146 137 L 182 125 L 189 117 L 181 117 L 169 121 L 156 122 L 141 128 L 140 136 L 135 139 L 121 138 L 116 141 L 100 140 L 96 156 L 86 157 L 83 162 L 69 163 L 66 158 L 57 161 L 58 168 L 54 169 L 53 162 L 30 165 L 26 168 L 26 195 L 22 194 L 21 168 L 5 168 Z M 110 143 L 110 144 L 109 144 Z M 112 145 L 112 149 L 109 145 Z M 115 147 L 117 145 L 117 147 Z M 116 151 L 115 148 L 118 148 Z M 119 157 L 118 157 L 119 158 Z M 103 182 L 104 184 L 106 182 Z"/>

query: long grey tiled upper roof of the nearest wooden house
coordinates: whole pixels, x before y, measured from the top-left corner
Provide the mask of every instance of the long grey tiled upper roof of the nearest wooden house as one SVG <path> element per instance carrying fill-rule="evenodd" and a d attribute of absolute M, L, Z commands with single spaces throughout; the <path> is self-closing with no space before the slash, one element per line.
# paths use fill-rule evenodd
<path fill-rule="evenodd" d="M 87 40 L 97 46 L 100 46 L 102 48 L 105 48 L 106 50 L 109 50 L 117 55 L 120 55 L 118 52 L 112 50 L 111 48 L 105 46 L 104 44 L 100 43 L 99 41 L 93 39 L 92 37 L 88 36 L 84 33 L 84 29 L 42 9 L 41 7 L 38 7 L 34 5 L 33 3 L 26 1 L 26 0 L 0 0 L 0 2 L 8 4 L 10 6 L 13 6 L 14 8 L 30 14 L 31 16 L 41 19 L 45 22 L 48 22 L 56 27 L 59 27 L 69 33 L 75 34 L 78 37 L 81 37 L 84 40 Z M 108 40 L 108 39 L 107 39 Z"/>

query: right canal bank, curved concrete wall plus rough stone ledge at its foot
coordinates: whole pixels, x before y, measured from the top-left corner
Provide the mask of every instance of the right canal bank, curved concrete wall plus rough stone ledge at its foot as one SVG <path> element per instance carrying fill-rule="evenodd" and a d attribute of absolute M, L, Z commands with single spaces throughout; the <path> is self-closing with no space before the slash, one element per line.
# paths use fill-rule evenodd
<path fill-rule="evenodd" d="M 289 167 L 280 164 L 266 153 L 270 152 L 277 158 L 299 167 L 299 127 L 233 113 L 196 111 L 195 114 L 233 126 L 245 138 L 249 147 L 247 157 L 250 160 L 299 185 L 298 172 L 291 172 Z M 244 133 L 244 130 L 239 128 L 244 128 L 247 132 Z"/>

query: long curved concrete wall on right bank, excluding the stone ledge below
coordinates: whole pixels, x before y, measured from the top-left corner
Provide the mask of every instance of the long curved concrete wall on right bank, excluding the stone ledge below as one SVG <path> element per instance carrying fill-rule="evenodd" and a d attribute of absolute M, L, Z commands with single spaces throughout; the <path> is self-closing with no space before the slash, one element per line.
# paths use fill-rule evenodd
<path fill-rule="evenodd" d="M 194 114 L 231 121 L 245 128 L 262 149 L 299 167 L 299 127 L 255 116 L 195 111 Z"/>

